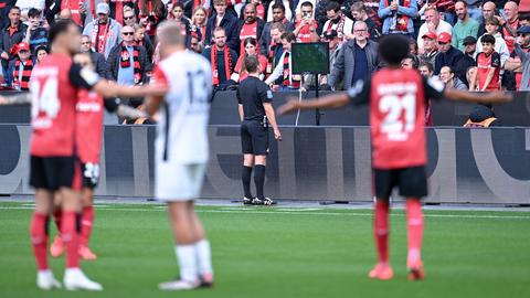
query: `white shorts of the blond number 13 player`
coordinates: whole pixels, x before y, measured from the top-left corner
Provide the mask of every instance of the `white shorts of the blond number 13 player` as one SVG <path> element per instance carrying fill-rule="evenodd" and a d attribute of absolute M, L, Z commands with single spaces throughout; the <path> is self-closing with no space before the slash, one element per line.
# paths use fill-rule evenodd
<path fill-rule="evenodd" d="M 167 202 L 191 201 L 201 194 L 205 163 L 180 164 L 158 162 L 155 195 Z"/>

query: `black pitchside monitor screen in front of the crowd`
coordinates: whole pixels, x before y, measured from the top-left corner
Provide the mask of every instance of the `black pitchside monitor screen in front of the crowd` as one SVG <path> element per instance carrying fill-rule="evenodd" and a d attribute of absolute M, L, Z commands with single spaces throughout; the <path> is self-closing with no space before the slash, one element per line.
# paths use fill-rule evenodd
<path fill-rule="evenodd" d="M 329 43 L 293 43 L 294 74 L 329 74 Z"/>

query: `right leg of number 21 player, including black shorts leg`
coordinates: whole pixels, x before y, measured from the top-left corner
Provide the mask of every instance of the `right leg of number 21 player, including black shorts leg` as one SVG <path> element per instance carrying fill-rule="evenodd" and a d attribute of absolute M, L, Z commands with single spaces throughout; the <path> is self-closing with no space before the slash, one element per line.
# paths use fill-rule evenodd
<path fill-rule="evenodd" d="M 411 280 L 424 277 L 421 257 L 424 219 L 421 198 L 427 195 L 427 179 L 424 167 L 404 169 L 400 177 L 400 193 L 406 198 L 406 232 L 409 254 L 406 266 Z"/>

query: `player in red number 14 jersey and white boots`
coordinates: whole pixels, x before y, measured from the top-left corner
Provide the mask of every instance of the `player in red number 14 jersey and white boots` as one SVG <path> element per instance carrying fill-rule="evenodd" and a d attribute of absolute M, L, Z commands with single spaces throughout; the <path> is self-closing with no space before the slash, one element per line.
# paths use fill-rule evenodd
<path fill-rule="evenodd" d="M 30 185 L 35 189 L 35 212 L 30 234 L 41 289 L 61 288 L 47 264 L 47 221 L 53 196 L 61 196 L 61 234 L 66 247 L 64 286 L 68 290 L 102 290 L 80 268 L 77 212 L 81 209 L 82 175 L 75 152 L 77 92 L 92 89 L 104 97 L 142 96 L 137 87 L 110 85 L 91 70 L 72 62 L 78 52 L 81 33 L 72 21 L 57 21 L 49 32 L 52 52 L 34 70 L 30 84 L 32 127 Z M 0 96 L 0 104 L 26 100 Z"/>

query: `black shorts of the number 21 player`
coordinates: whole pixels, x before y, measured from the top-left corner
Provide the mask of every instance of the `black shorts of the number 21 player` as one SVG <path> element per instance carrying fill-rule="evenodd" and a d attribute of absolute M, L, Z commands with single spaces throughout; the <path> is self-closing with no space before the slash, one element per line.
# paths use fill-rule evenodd
<path fill-rule="evenodd" d="M 427 196 L 427 175 L 425 167 L 411 167 L 392 170 L 373 169 L 375 196 L 389 200 L 394 187 L 400 188 L 400 195 L 405 198 Z"/>

